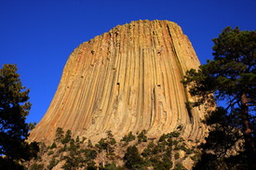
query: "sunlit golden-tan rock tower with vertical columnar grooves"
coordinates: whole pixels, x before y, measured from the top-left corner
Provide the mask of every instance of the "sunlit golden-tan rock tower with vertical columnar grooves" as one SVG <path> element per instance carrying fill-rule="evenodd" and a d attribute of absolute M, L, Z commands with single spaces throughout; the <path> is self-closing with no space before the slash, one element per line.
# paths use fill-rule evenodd
<path fill-rule="evenodd" d="M 117 25 L 70 55 L 47 113 L 30 138 L 52 142 L 57 127 L 96 141 L 112 130 L 118 139 L 147 130 L 160 137 L 182 125 L 182 137 L 204 137 L 204 111 L 187 111 L 193 100 L 182 75 L 199 60 L 179 25 L 138 20 Z"/>

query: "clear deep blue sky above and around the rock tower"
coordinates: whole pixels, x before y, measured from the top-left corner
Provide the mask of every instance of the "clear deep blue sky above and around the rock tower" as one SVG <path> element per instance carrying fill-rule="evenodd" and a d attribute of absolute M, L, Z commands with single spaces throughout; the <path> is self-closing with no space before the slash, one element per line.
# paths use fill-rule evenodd
<path fill-rule="evenodd" d="M 27 122 L 43 118 L 74 48 L 131 20 L 171 20 L 201 63 L 226 26 L 256 30 L 255 0 L 0 0 L 0 67 L 17 63 L 30 87 Z"/>

